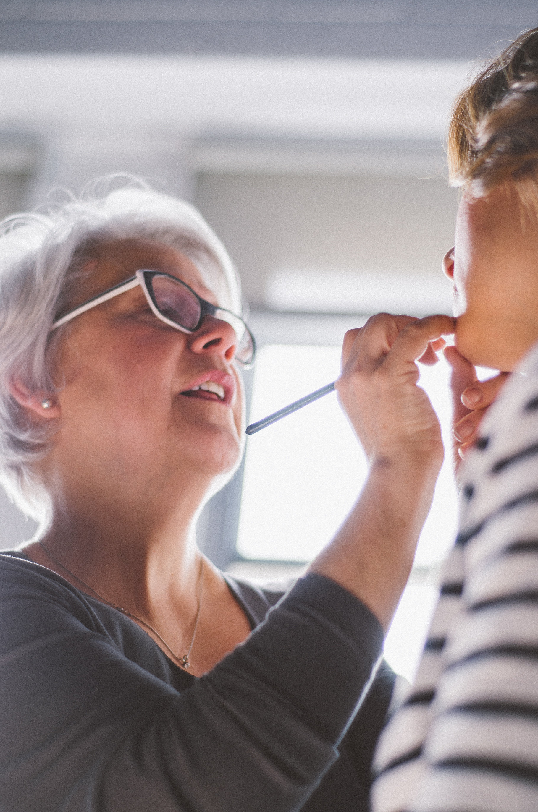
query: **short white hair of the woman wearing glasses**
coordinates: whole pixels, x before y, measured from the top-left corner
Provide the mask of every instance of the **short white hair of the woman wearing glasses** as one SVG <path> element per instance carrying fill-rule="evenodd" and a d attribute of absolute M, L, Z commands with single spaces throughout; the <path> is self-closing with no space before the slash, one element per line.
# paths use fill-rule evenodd
<path fill-rule="evenodd" d="M 57 391 L 54 356 L 67 324 L 50 333 L 55 318 L 102 244 L 154 240 L 176 248 L 197 266 L 219 303 L 241 313 L 236 270 L 215 232 L 189 203 L 156 192 L 144 181 L 109 175 L 80 198 L 0 222 L 0 482 L 28 516 L 46 523 L 49 500 L 35 472 L 50 429 L 37 426 L 10 393 L 19 378 L 30 391 Z M 58 382 L 56 382 L 58 384 Z"/>

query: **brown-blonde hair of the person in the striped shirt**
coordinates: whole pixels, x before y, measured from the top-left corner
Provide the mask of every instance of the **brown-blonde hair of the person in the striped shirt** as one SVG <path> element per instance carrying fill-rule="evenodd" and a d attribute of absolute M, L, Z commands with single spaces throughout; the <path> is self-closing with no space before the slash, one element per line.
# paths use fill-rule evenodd
<path fill-rule="evenodd" d="M 538 28 L 520 34 L 460 93 L 448 153 L 453 186 L 482 197 L 514 184 L 538 214 Z"/>

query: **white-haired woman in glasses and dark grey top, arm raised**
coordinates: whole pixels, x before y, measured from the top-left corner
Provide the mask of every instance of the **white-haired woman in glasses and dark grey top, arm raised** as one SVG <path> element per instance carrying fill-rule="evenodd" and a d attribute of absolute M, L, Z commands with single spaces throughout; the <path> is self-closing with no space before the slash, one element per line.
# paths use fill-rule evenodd
<path fill-rule="evenodd" d="M 2 481 L 41 525 L 0 556 L 2 808 L 367 808 L 384 630 L 443 456 L 415 361 L 453 320 L 346 334 L 336 389 L 370 473 L 284 595 L 196 544 L 244 445 L 240 313 L 215 234 L 145 184 L 3 223 Z"/>

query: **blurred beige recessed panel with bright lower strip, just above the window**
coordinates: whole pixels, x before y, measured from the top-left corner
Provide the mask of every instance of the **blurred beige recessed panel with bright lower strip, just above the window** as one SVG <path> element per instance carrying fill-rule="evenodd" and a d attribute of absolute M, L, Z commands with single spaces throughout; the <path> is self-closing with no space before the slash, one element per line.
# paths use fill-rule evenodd
<path fill-rule="evenodd" d="M 458 190 L 446 172 L 202 174 L 194 202 L 232 253 L 253 307 L 451 313 L 440 259 L 453 244 Z"/>

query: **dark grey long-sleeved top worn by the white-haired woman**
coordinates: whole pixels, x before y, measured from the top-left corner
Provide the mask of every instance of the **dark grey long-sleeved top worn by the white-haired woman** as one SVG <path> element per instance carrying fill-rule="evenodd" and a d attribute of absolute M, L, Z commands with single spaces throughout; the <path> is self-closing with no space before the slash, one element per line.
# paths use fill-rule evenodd
<path fill-rule="evenodd" d="M 254 632 L 197 678 L 121 612 L 0 555 L 0 810 L 367 810 L 386 663 L 354 714 L 380 624 L 319 575 L 284 598 L 227 581 Z"/>

